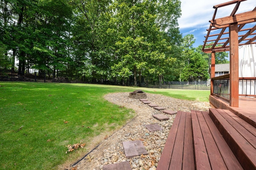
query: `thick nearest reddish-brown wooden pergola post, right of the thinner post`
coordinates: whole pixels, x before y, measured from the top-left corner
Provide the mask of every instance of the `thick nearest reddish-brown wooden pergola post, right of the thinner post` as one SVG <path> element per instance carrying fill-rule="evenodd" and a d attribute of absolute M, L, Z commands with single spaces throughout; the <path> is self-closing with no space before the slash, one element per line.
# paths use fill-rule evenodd
<path fill-rule="evenodd" d="M 230 102 L 229 106 L 239 106 L 239 59 L 238 59 L 238 25 L 232 23 L 229 26 L 230 45 Z"/>

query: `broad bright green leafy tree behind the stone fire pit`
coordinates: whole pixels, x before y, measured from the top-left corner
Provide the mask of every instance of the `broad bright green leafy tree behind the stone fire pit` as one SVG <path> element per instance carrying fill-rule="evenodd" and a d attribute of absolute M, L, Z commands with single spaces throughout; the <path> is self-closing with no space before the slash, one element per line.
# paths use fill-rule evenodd
<path fill-rule="evenodd" d="M 178 25 L 180 1 L 116 0 L 114 9 L 118 41 L 112 75 L 116 75 L 115 70 L 126 67 L 123 74 L 133 75 L 135 86 L 137 76 L 140 84 L 142 75 L 162 81 L 168 66 L 176 61 L 176 56 L 170 54 L 173 42 L 167 40 L 170 40 L 171 28 Z"/>

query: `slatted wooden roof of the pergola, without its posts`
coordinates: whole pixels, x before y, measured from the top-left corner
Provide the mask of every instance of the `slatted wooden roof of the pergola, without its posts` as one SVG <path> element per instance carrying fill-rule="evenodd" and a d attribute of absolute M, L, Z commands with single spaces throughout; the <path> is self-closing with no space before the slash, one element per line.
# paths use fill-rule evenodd
<path fill-rule="evenodd" d="M 205 36 L 206 39 L 204 41 L 204 45 L 202 48 L 202 51 L 204 53 L 212 53 L 212 52 L 222 52 L 222 51 L 229 51 L 229 31 L 224 32 L 226 28 L 229 28 L 230 24 L 236 23 L 238 26 L 238 45 L 246 45 L 246 44 L 255 44 L 256 42 L 256 33 L 254 31 L 256 30 L 256 25 L 254 24 L 254 27 L 245 28 L 242 29 L 245 25 L 248 23 L 256 22 L 256 7 L 252 11 L 236 14 L 236 12 L 239 9 L 240 3 L 245 0 L 233 0 L 230 2 L 226 2 L 223 4 L 219 4 L 214 6 L 215 8 L 214 15 L 212 17 L 212 20 L 210 20 L 210 27 L 207 29 L 207 35 Z M 223 18 L 214 19 L 216 17 L 217 9 L 220 7 L 228 6 L 231 4 L 236 4 L 234 9 L 231 12 L 230 16 L 226 16 Z M 248 26 L 247 26 L 248 27 Z M 222 29 L 220 33 L 215 33 L 210 35 L 210 32 L 212 30 L 216 29 Z M 245 34 L 241 35 L 242 31 L 247 31 Z M 228 37 L 226 37 L 226 34 L 228 34 Z M 225 36 L 223 36 L 225 35 Z M 218 36 L 216 39 L 208 40 L 209 37 Z M 253 36 L 253 37 L 251 37 Z M 226 40 L 225 42 L 219 42 L 220 40 Z M 208 42 L 212 42 L 211 44 L 206 44 Z M 243 42 L 243 43 L 242 43 Z M 245 42 L 245 43 L 244 43 Z M 217 46 L 219 44 L 222 44 L 222 46 Z M 210 48 L 205 48 L 206 46 L 211 46 Z"/>

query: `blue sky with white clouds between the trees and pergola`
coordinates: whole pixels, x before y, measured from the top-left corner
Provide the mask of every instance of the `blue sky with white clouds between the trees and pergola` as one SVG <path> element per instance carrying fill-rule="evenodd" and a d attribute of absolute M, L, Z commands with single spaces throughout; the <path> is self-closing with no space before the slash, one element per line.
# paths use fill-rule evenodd
<path fill-rule="evenodd" d="M 214 14 L 214 5 L 222 4 L 231 0 L 180 0 L 182 16 L 179 18 L 178 23 L 180 27 L 180 33 L 183 37 L 187 34 L 193 34 L 196 43 L 193 47 L 203 45 L 205 40 L 206 29 L 209 28 L 209 20 L 212 20 Z M 253 10 L 256 7 L 256 0 L 246 0 L 241 2 L 240 7 L 236 14 Z M 217 18 L 230 16 L 234 5 L 218 8 Z"/>

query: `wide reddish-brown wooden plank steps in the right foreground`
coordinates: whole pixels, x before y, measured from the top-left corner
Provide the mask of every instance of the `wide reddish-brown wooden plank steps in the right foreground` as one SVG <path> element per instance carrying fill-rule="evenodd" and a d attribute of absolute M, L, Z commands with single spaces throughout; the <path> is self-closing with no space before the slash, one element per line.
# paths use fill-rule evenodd
<path fill-rule="evenodd" d="M 256 128 L 231 111 L 178 111 L 157 170 L 253 170 L 255 156 Z"/>

